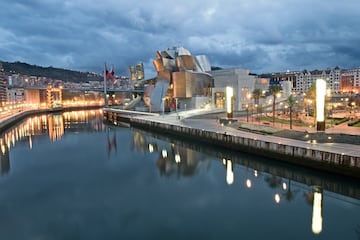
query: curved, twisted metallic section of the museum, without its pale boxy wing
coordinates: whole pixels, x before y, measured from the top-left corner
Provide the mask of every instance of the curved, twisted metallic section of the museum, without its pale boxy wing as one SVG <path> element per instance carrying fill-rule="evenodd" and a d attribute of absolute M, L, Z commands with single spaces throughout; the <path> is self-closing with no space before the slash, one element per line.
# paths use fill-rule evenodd
<path fill-rule="evenodd" d="M 192 56 L 184 47 L 157 51 L 153 61 L 157 81 L 151 94 L 151 107 L 160 111 L 175 99 L 211 97 L 214 79 L 208 72 L 211 65 L 205 55 Z"/>

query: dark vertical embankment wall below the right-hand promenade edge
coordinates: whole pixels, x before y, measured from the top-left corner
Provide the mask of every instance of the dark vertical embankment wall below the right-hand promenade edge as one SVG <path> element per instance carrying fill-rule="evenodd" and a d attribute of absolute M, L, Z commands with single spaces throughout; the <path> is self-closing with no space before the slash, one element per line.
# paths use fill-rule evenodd
<path fill-rule="evenodd" d="M 187 126 L 164 124 L 140 118 L 130 118 L 130 125 L 149 131 L 171 134 L 177 137 L 214 144 L 224 148 L 250 152 L 252 154 L 294 163 L 318 170 L 360 178 L 360 156 L 350 156 L 334 152 L 291 146 L 277 142 L 267 142 L 217 133 Z"/>

